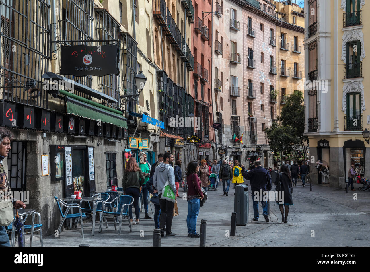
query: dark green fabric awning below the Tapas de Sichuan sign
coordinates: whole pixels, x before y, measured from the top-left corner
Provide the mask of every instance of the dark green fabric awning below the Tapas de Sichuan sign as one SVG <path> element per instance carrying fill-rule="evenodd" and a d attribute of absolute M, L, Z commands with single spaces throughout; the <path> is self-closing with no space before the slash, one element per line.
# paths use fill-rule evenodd
<path fill-rule="evenodd" d="M 100 120 L 103 123 L 116 125 L 117 127 L 121 128 L 127 128 L 127 119 L 122 115 L 103 110 L 102 108 L 86 104 L 70 97 L 66 97 L 66 101 L 68 114 L 77 115 L 95 121 Z"/>

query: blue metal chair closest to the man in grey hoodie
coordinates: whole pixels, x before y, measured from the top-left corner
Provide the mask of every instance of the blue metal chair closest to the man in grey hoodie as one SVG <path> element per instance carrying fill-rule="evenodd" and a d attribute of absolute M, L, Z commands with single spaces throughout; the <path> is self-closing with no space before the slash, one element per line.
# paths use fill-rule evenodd
<path fill-rule="evenodd" d="M 118 204 L 117 204 L 117 211 L 120 211 L 120 212 L 109 212 L 109 211 L 104 211 L 104 207 L 103 207 L 103 217 L 105 218 L 106 216 L 111 216 L 113 217 L 113 221 L 114 221 L 114 229 L 117 231 L 117 226 L 116 226 L 116 222 L 115 222 L 115 218 L 117 218 L 118 216 L 120 217 L 120 220 L 119 220 L 119 226 L 118 226 L 118 235 L 121 235 L 121 225 L 122 225 L 122 216 L 123 215 L 126 215 L 127 218 L 128 218 L 128 225 L 130 227 L 130 232 L 132 232 L 132 228 L 131 228 L 131 221 L 130 221 L 130 215 L 129 215 L 129 212 L 128 212 L 128 207 L 129 205 L 132 205 L 132 203 L 134 203 L 134 198 L 131 197 L 130 195 L 121 195 L 115 199 L 113 199 L 113 201 L 116 201 L 118 200 Z M 107 205 L 108 203 L 104 203 L 104 205 Z M 100 227 L 99 227 L 99 232 L 102 231 L 102 223 L 103 223 L 103 220 L 101 219 L 100 220 Z"/>

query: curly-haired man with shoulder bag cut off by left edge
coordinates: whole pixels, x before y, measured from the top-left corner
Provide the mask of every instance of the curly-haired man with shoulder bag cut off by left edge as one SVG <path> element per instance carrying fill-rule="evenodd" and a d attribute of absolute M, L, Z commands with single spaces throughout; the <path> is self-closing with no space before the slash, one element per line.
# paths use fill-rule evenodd
<path fill-rule="evenodd" d="M 10 189 L 10 184 L 8 178 L 6 176 L 6 172 L 3 166 L 3 159 L 8 156 L 10 150 L 10 140 L 13 138 L 13 134 L 11 134 L 10 130 L 6 128 L 0 127 L 0 201 L 10 201 L 13 204 L 13 208 L 20 209 L 26 208 L 26 204 L 24 204 L 20 200 L 16 200 L 12 198 L 12 192 Z M 7 208 L 3 208 L 4 210 Z M 10 206 L 11 209 L 11 206 Z M 11 209 L 12 210 L 12 209 Z M 11 211 L 13 212 L 13 211 Z M 1 218 L 5 219 L 5 218 Z M 11 220 L 11 218 L 10 218 Z M 10 225 L 11 223 L 9 223 Z M 0 246 L 10 246 L 9 236 L 6 233 L 7 226 L 0 226 Z"/>

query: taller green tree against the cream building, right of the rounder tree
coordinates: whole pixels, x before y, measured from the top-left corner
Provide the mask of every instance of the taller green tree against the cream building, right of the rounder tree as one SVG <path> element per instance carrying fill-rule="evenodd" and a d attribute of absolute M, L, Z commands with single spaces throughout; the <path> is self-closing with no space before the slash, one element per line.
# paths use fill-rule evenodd
<path fill-rule="evenodd" d="M 290 125 L 295 129 L 294 134 L 299 138 L 304 157 L 306 158 L 309 140 L 307 136 L 303 135 L 305 132 L 305 107 L 303 103 L 303 93 L 297 90 L 294 91 L 293 94 L 286 97 L 286 104 L 282 108 L 277 120 L 279 120 L 283 126 Z"/>

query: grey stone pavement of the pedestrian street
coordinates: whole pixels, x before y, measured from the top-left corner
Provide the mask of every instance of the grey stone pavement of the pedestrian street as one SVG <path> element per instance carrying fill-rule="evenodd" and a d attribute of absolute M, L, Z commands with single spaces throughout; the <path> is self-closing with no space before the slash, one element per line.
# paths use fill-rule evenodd
<path fill-rule="evenodd" d="M 245 182 L 246 184 L 246 182 Z M 327 185 L 309 185 L 301 183 L 293 189 L 293 204 L 290 207 L 288 223 L 281 222 L 278 205 L 271 202 L 270 222 L 266 223 L 260 207 L 260 221 L 251 221 L 253 207 L 249 192 L 249 224 L 236 227 L 236 236 L 227 236 L 230 230 L 231 212 L 234 206 L 234 189 L 231 185 L 229 196 L 223 196 L 222 186 L 218 191 L 209 191 L 209 201 L 200 209 L 197 230 L 200 233 L 201 219 L 207 220 L 207 246 L 368 246 L 370 235 L 367 226 L 370 223 L 370 192 L 349 191 L 330 188 Z M 179 194 L 184 192 L 180 189 Z M 354 200 L 354 193 L 357 200 Z M 186 227 L 187 202 L 178 198 L 179 215 L 173 219 L 173 237 L 162 237 L 161 246 L 199 246 L 199 238 L 188 238 Z M 154 206 L 153 206 L 154 211 Z M 150 208 L 149 208 L 150 213 Z M 142 219 L 140 225 L 132 226 L 129 232 L 127 219 L 122 224 L 121 235 L 114 230 L 108 219 L 101 233 L 91 235 L 91 221 L 84 222 L 85 239 L 81 239 L 80 226 L 71 231 L 63 231 L 61 236 L 44 238 L 44 246 L 152 246 L 154 221 Z M 112 219 L 111 219 L 112 220 Z M 96 222 L 98 229 L 98 221 Z M 118 228 L 118 227 L 117 227 Z M 144 231 L 144 232 L 143 232 Z M 312 236 L 314 231 L 314 237 Z M 140 236 L 144 234 L 144 236 Z M 29 235 L 28 235 L 29 237 Z M 36 235 L 34 246 L 38 246 Z M 26 244 L 27 244 L 26 239 Z"/>

